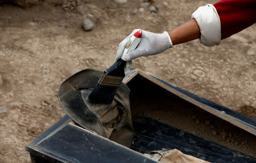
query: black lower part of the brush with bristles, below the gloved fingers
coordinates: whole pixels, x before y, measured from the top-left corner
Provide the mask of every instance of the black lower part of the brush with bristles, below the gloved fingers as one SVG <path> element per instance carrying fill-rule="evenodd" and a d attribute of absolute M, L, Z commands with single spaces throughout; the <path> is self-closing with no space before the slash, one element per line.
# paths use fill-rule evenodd
<path fill-rule="evenodd" d="M 126 61 L 118 59 L 112 66 L 104 71 L 98 84 L 89 95 L 89 100 L 102 104 L 111 104 L 117 88 L 125 77 Z"/>

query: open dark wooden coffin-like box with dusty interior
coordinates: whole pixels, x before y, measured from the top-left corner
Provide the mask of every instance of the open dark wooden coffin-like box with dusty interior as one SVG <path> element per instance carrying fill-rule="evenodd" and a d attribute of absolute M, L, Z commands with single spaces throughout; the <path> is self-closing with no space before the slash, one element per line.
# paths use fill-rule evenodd
<path fill-rule="evenodd" d="M 31 161 L 157 162 L 143 153 L 176 148 L 210 162 L 256 162 L 255 119 L 138 69 L 123 83 L 131 91 L 131 148 L 85 130 L 65 115 L 27 146 Z"/>

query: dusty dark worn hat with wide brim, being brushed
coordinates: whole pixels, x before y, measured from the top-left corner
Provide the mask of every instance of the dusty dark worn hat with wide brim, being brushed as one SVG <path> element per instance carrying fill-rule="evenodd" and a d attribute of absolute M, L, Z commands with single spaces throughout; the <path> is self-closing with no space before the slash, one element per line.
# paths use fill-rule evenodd
<path fill-rule="evenodd" d="M 119 144 L 130 147 L 133 126 L 127 85 L 121 83 L 112 104 L 98 104 L 88 100 L 90 92 L 104 72 L 82 70 L 65 80 L 59 90 L 64 111 L 81 127 L 96 132 Z"/>

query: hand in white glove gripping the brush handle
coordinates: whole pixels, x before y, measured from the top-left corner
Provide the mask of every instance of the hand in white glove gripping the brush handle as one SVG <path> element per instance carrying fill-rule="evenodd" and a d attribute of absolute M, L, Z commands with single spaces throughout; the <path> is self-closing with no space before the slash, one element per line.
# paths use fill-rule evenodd
<path fill-rule="evenodd" d="M 138 47 L 131 52 L 123 54 L 123 50 L 125 50 L 125 46 L 130 37 L 138 30 L 139 29 L 134 29 L 133 32 L 131 32 L 131 34 L 119 44 L 115 61 L 119 58 L 122 58 L 124 61 L 131 61 L 131 59 L 138 58 L 143 55 L 155 55 L 164 52 L 164 50 L 168 48 L 172 48 L 172 41 L 168 32 L 152 33 L 142 30 L 142 38 Z"/>

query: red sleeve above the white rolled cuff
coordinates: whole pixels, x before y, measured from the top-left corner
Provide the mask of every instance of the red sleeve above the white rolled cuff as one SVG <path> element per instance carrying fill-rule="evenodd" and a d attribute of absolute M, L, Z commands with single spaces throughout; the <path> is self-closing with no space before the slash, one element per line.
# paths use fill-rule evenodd
<path fill-rule="evenodd" d="M 220 16 L 221 39 L 256 22 L 256 0 L 222 0 L 213 5 Z"/>

